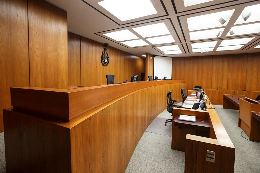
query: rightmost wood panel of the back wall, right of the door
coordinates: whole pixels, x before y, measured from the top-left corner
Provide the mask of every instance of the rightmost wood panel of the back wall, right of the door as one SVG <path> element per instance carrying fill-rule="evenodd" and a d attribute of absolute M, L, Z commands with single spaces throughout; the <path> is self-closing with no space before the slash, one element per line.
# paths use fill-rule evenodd
<path fill-rule="evenodd" d="M 246 90 L 260 91 L 260 53 L 248 54 L 246 72 Z"/>

